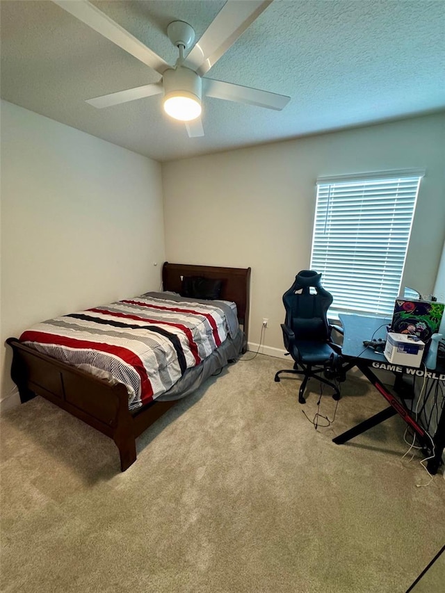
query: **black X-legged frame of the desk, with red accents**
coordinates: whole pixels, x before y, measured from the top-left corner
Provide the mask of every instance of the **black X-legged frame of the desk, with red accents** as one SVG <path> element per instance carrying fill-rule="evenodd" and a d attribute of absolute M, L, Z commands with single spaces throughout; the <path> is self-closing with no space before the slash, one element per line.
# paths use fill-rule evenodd
<path fill-rule="evenodd" d="M 365 339 L 369 339 L 370 336 L 365 336 Z M 428 471 L 434 475 L 437 473 L 439 466 L 442 464 L 442 453 L 445 448 L 445 407 L 442 409 L 442 414 L 440 415 L 439 422 L 437 423 L 437 429 L 435 435 L 433 437 L 430 436 L 426 432 L 426 430 L 416 421 L 411 415 L 411 412 L 401 401 L 398 400 L 388 389 L 385 385 L 379 380 L 379 378 L 375 375 L 372 368 L 376 366 L 385 371 L 391 371 L 400 375 L 407 371 L 407 368 L 412 369 L 412 367 L 406 367 L 401 365 L 394 365 L 387 363 L 386 359 L 382 359 L 380 363 L 376 361 L 375 358 L 369 357 L 369 355 L 362 356 L 363 352 L 360 353 L 357 357 L 353 355 L 346 355 L 344 356 L 346 364 L 343 366 L 344 371 L 350 371 L 351 368 L 357 367 L 359 371 L 362 371 L 364 376 L 373 384 L 375 389 L 377 389 L 381 395 L 387 400 L 389 406 L 383 409 L 381 412 L 378 412 L 371 418 L 366 419 L 365 421 L 355 425 L 353 428 L 346 430 L 342 434 L 339 434 L 338 437 L 332 439 L 332 441 L 337 444 L 341 445 L 357 437 L 359 434 L 366 432 L 370 428 L 377 426 L 381 422 L 392 418 L 392 416 L 396 416 L 398 414 L 401 418 L 414 430 L 417 437 L 419 437 L 419 441 L 421 442 L 423 448 L 425 450 L 430 451 L 430 459 L 427 462 L 427 469 Z M 415 371 L 420 371 L 421 369 L 414 369 Z M 428 371 L 425 371 L 428 372 Z M 429 380 L 445 380 L 445 373 L 428 373 L 430 377 Z M 413 375 L 415 376 L 415 375 Z M 444 378 L 442 378 L 444 377 Z M 433 445 L 433 446 L 432 446 Z M 433 455 L 434 453 L 434 455 Z"/>

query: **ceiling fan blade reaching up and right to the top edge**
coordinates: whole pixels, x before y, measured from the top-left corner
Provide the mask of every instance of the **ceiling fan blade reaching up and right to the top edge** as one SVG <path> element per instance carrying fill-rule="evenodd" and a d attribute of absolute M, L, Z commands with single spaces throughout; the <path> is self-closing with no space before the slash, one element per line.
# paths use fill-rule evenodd
<path fill-rule="evenodd" d="M 266 10 L 272 0 L 227 0 L 188 54 L 185 64 L 203 76 Z"/>

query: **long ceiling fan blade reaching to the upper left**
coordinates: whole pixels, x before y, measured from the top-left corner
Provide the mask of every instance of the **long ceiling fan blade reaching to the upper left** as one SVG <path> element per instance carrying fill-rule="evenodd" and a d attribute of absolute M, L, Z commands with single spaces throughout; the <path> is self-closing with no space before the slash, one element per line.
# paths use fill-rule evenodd
<path fill-rule="evenodd" d="M 154 51 L 133 37 L 131 33 L 102 13 L 88 0 L 53 0 L 53 2 L 159 74 L 163 74 L 164 70 L 170 67 Z"/>

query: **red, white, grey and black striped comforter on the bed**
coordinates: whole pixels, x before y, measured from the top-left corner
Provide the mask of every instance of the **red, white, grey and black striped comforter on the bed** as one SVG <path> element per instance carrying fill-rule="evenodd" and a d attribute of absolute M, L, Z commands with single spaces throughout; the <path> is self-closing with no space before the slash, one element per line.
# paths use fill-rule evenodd
<path fill-rule="evenodd" d="M 227 307 L 226 307 L 227 309 Z M 229 331 L 223 305 L 148 295 L 44 321 L 20 340 L 129 392 L 129 409 L 154 400 L 200 364 Z"/>

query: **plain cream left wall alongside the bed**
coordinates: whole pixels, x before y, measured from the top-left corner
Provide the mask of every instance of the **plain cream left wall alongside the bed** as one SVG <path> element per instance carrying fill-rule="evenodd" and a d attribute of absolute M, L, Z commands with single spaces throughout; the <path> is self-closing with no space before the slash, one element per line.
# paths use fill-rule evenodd
<path fill-rule="evenodd" d="M 3 407 L 16 400 L 5 339 L 159 289 L 163 235 L 159 163 L 1 102 Z"/>

